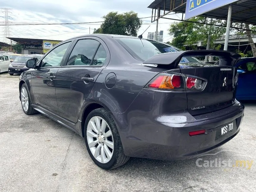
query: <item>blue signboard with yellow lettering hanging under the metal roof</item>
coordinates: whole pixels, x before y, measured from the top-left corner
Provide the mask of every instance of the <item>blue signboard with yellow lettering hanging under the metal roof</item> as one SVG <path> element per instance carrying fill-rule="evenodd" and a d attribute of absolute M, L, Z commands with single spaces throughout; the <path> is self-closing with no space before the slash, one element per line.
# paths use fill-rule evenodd
<path fill-rule="evenodd" d="M 185 20 L 239 0 L 187 0 Z"/>

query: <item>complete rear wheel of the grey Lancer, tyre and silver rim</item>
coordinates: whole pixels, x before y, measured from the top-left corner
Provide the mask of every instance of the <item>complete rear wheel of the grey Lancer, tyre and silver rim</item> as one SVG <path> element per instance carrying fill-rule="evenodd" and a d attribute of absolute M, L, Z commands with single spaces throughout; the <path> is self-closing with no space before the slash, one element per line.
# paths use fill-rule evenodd
<path fill-rule="evenodd" d="M 117 168 L 129 160 L 124 154 L 121 139 L 110 113 L 95 109 L 85 121 L 85 144 L 90 157 L 101 168 Z"/>

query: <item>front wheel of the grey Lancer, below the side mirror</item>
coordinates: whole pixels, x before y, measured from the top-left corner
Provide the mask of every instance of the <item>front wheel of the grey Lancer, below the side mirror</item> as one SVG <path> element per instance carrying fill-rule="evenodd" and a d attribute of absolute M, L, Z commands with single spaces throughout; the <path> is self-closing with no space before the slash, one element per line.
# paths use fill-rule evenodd
<path fill-rule="evenodd" d="M 32 107 L 29 91 L 25 83 L 21 86 L 21 106 L 24 113 L 27 115 L 37 113 L 37 111 Z"/>

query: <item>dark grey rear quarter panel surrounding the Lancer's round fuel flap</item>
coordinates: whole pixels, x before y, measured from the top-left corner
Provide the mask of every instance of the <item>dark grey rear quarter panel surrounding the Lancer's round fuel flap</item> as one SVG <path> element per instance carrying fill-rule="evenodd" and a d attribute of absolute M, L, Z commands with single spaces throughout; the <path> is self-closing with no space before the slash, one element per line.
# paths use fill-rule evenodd
<path fill-rule="evenodd" d="M 86 103 L 96 102 L 102 104 L 110 112 L 124 113 L 145 85 L 162 71 L 162 68 L 137 64 L 125 64 L 118 67 L 110 65 L 102 70 Z M 114 73 L 116 76 L 116 83 L 111 89 L 105 85 L 105 79 L 109 73 Z"/>

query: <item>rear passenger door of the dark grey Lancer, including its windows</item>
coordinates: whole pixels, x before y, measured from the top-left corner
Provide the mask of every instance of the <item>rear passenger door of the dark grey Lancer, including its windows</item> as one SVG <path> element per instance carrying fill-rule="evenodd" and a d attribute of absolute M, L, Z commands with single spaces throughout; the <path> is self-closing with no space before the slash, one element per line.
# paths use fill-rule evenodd
<path fill-rule="evenodd" d="M 77 38 L 64 64 L 57 72 L 56 97 L 60 116 L 76 123 L 85 99 L 97 77 L 108 64 L 110 54 L 96 37 Z"/>

